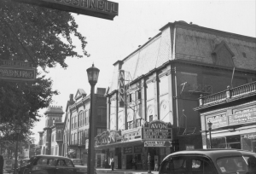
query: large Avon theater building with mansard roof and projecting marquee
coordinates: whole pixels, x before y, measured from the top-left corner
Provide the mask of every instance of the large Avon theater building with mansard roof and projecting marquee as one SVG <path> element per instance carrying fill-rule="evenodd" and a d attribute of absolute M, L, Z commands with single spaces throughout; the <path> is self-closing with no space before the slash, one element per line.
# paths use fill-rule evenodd
<path fill-rule="evenodd" d="M 231 81 L 233 88 L 255 81 L 255 43 L 184 21 L 161 27 L 113 63 L 107 131 L 96 136 L 96 150 L 123 169 L 133 167 L 132 159 L 147 169 L 149 154 L 154 169 L 166 154 L 202 148 L 201 116 L 194 111 L 198 98 L 226 89 Z"/>

